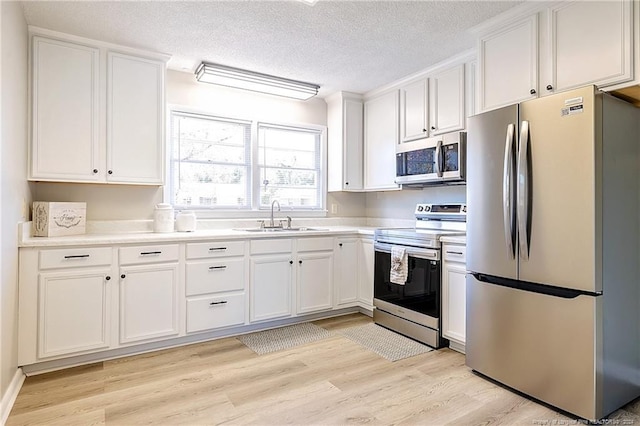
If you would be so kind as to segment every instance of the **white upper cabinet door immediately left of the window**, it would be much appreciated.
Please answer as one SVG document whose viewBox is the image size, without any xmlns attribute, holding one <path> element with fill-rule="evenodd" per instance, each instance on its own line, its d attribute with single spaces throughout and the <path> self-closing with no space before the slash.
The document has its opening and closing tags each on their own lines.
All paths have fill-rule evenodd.
<svg viewBox="0 0 640 426">
<path fill-rule="evenodd" d="M 163 182 L 164 63 L 109 52 L 107 180 Z"/>
</svg>

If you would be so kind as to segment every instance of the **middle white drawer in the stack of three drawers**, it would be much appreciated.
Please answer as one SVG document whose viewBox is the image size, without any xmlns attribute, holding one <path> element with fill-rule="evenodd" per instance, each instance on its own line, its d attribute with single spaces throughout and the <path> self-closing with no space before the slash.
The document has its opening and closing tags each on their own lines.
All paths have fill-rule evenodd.
<svg viewBox="0 0 640 426">
<path fill-rule="evenodd" d="M 244 258 L 187 263 L 187 296 L 244 290 Z"/>
</svg>

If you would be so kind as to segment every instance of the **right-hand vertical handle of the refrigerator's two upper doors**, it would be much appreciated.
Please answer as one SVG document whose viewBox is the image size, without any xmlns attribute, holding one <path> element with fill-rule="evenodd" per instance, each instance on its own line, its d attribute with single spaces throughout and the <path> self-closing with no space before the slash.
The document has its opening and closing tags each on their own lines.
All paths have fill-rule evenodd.
<svg viewBox="0 0 640 426">
<path fill-rule="evenodd" d="M 518 241 L 520 258 L 529 259 L 529 122 L 522 121 L 518 150 Z"/>
</svg>

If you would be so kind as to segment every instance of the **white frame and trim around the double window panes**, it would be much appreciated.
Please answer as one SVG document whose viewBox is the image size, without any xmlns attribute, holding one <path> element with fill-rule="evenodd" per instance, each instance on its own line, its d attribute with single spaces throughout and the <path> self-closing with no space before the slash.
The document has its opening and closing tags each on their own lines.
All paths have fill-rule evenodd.
<svg viewBox="0 0 640 426">
<path fill-rule="evenodd" d="M 248 208 L 229 208 L 229 207 L 205 207 L 205 206 L 181 206 L 174 205 L 172 203 L 172 189 L 174 176 L 172 174 L 171 163 L 173 162 L 173 134 L 172 134 L 172 125 L 173 125 L 173 114 L 185 114 L 185 115 L 194 115 L 194 116 L 203 116 L 205 118 L 219 119 L 221 121 L 229 121 L 229 122 L 238 122 L 238 123 L 250 123 L 250 153 L 251 158 L 249 161 L 250 164 L 250 187 L 249 187 L 249 197 L 250 197 L 250 205 Z M 166 152 L 168 153 L 165 159 L 165 167 L 167 169 L 166 181 L 163 187 L 163 201 L 165 203 L 171 203 L 176 210 L 193 210 L 196 213 L 198 218 L 202 219 L 216 219 L 216 218 L 264 218 L 269 217 L 271 213 L 271 208 L 264 206 L 260 206 L 260 167 L 258 164 L 258 150 L 259 150 L 259 142 L 258 142 L 258 130 L 259 125 L 273 127 L 273 128 L 282 128 L 282 129 L 291 129 L 291 130 L 302 130 L 302 131 L 310 131 L 317 132 L 319 134 L 319 178 L 318 178 L 318 194 L 320 200 L 320 206 L 316 208 L 290 208 L 289 206 L 282 205 L 282 212 L 291 212 L 295 214 L 296 217 L 326 217 L 327 216 L 327 175 L 328 175 L 328 164 L 327 164 L 327 126 L 313 123 L 301 123 L 301 122 L 281 122 L 274 120 L 261 120 L 259 118 L 242 118 L 242 117 L 226 117 L 216 112 L 207 111 L 202 108 L 194 108 L 190 106 L 183 105 L 168 105 L 167 106 L 167 131 L 165 134 L 167 135 L 167 139 L 165 141 Z"/>
</svg>

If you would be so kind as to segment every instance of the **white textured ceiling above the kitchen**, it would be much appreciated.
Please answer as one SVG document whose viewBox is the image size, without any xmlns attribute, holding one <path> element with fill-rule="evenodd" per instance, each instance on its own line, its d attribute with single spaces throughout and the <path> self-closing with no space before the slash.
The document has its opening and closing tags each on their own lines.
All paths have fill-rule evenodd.
<svg viewBox="0 0 640 426">
<path fill-rule="evenodd" d="M 475 46 L 518 1 L 27 1 L 29 25 L 364 93 Z"/>
</svg>

